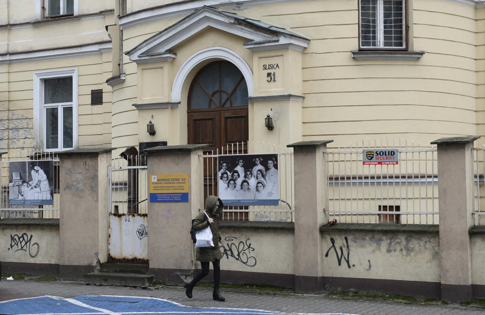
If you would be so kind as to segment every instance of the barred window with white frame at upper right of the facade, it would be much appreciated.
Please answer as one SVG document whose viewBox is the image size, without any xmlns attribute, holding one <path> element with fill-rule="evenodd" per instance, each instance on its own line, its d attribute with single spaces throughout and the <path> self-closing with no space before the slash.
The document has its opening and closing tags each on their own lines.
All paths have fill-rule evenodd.
<svg viewBox="0 0 485 315">
<path fill-rule="evenodd" d="M 360 48 L 406 48 L 406 1 L 360 0 Z"/>
</svg>

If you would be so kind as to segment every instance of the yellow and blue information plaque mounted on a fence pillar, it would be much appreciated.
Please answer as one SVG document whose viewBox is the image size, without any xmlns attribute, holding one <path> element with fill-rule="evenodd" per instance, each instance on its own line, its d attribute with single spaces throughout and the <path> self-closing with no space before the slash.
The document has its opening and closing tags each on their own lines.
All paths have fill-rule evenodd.
<svg viewBox="0 0 485 315">
<path fill-rule="evenodd" d="M 150 175 L 150 202 L 189 202 L 189 174 Z"/>
</svg>

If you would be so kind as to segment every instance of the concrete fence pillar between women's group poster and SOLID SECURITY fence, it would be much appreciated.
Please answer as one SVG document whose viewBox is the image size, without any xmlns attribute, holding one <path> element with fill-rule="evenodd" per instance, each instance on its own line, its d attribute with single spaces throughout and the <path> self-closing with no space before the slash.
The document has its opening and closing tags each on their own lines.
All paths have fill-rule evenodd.
<svg viewBox="0 0 485 315">
<path fill-rule="evenodd" d="M 333 140 L 289 144 L 294 149 L 295 290 L 318 292 L 322 281 L 320 227 L 328 222 L 327 163 L 324 152 Z"/>
</svg>

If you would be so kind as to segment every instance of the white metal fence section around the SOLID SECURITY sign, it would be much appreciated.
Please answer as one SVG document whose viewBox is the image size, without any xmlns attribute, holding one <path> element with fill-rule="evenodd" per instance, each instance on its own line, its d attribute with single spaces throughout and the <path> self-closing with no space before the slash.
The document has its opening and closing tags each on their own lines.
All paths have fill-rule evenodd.
<svg viewBox="0 0 485 315">
<path fill-rule="evenodd" d="M 396 149 L 398 164 L 364 165 L 367 149 Z M 436 147 L 408 140 L 368 139 L 329 148 L 330 219 L 354 223 L 438 224 Z"/>
</svg>

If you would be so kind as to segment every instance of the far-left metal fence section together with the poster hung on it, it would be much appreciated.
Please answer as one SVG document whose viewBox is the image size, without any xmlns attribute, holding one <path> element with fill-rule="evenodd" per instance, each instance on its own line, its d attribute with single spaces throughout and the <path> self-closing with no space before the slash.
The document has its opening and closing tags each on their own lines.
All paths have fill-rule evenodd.
<svg viewBox="0 0 485 315">
<path fill-rule="evenodd" d="M 2 156 L 4 218 L 59 218 L 59 156 L 22 150 Z"/>
</svg>

